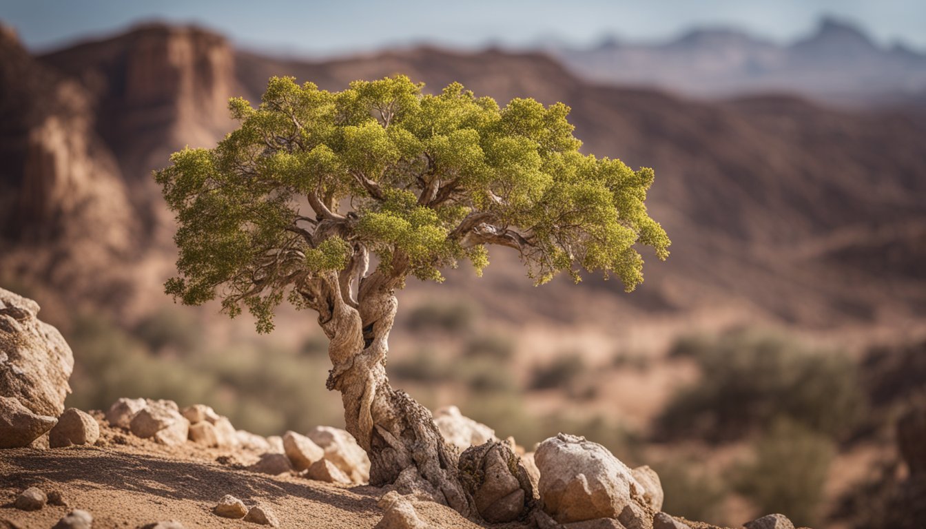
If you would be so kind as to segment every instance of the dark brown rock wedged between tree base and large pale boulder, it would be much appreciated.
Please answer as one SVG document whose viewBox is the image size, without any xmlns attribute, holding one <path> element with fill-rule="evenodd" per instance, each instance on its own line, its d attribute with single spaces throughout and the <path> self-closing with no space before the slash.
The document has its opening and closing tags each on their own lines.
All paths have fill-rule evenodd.
<svg viewBox="0 0 926 529">
<path fill-rule="evenodd" d="M 531 478 L 506 442 L 469 447 L 460 455 L 458 466 L 460 480 L 486 522 L 512 522 L 530 510 Z"/>
</svg>

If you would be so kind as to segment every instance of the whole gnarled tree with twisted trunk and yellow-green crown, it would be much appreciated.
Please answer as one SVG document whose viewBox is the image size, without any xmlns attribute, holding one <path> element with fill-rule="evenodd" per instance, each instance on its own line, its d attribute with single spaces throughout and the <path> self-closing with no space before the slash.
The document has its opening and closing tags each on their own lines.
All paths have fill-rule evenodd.
<svg viewBox="0 0 926 529">
<path fill-rule="evenodd" d="M 177 214 L 179 277 L 166 290 L 198 305 L 219 296 L 273 329 L 287 300 L 314 309 L 331 340 L 329 389 L 367 450 L 373 485 L 400 473 L 471 513 L 431 413 L 386 377 L 387 339 L 407 276 L 519 253 L 534 283 L 568 272 L 643 281 L 634 246 L 669 255 L 646 213 L 653 170 L 579 153 L 569 107 L 499 107 L 454 83 L 436 95 L 396 76 L 328 92 L 273 78 L 257 108 L 230 103 L 240 127 L 212 149 L 184 149 L 156 171 Z M 371 256 L 375 268 L 370 271 Z"/>
</svg>

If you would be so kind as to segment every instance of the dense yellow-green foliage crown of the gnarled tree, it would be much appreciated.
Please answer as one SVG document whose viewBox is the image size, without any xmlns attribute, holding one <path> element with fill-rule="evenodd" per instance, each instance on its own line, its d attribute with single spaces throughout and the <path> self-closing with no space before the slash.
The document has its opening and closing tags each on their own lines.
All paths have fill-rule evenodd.
<svg viewBox="0 0 926 529">
<path fill-rule="evenodd" d="M 507 241 L 535 283 L 602 271 L 628 291 L 643 281 L 636 243 L 669 255 L 644 206 L 653 170 L 580 154 L 569 107 L 530 98 L 499 107 L 459 83 L 421 88 L 401 75 L 343 92 L 272 78 L 257 108 L 232 99 L 237 130 L 156 171 L 179 220 L 180 276 L 167 292 L 200 304 L 218 289 L 226 312 L 244 305 L 267 332 L 299 271 L 340 270 L 356 245 L 387 264 L 401 252 L 409 273 L 441 281 L 460 259 L 482 271 L 485 245 Z M 305 236 L 319 213 L 307 204 L 319 203 L 342 222 Z M 474 213 L 496 238 L 458 229 Z"/>
</svg>

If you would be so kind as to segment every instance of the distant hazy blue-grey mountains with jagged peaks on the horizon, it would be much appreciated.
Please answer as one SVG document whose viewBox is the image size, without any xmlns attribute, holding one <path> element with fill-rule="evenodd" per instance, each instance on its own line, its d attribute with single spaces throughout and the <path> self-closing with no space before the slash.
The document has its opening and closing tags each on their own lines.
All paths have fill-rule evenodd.
<svg viewBox="0 0 926 529">
<path fill-rule="evenodd" d="M 857 27 L 824 18 L 792 44 L 742 31 L 690 31 L 665 44 L 621 43 L 587 49 L 552 46 L 551 54 L 594 82 L 656 86 L 699 97 L 791 93 L 863 105 L 926 90 L 926 55 L 903 44 L 882 47 Z"/>
</svg>

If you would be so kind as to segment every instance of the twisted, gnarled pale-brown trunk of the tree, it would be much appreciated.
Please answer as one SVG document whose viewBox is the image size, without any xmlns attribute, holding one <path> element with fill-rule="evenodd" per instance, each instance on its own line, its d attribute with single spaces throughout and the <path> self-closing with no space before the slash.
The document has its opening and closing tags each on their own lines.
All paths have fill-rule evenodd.
<svg viewBox="0 0 926 529">
<path fill-rule="evenodd" d="M 389 332 L 398 308 L 394 289 L 403 275 L 395 267 L 394 259 L 388 271 L 363 277 L 365 270 L 352 266 L 340 277 L 331 272 L 301 286 L 331 340 L 327 385 L 341 392 L 346 429 L 369 455 L 370 485 L 401 481 L 472 516 L 472 498 L 457 476 L 456 451 L 444 444 L 431 411 L 394 390 L 386 376 Z M 351 296 L 354 280 L 359 283 L 357 301 Z"/>
</svg>

